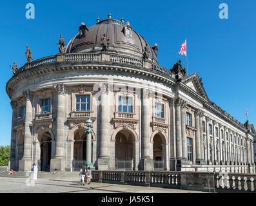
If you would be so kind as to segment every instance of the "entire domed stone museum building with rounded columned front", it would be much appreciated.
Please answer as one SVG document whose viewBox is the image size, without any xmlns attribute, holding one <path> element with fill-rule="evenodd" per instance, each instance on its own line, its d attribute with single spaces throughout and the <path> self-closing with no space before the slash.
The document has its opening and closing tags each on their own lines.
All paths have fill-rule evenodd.
<svg viewBox="0 0 256 206">
<path fill-rule="evenodd" d="M 159 66 L 157 44 L 123 18 L 78 30 L 56 55 L 33 61 L 27 46 L 14 62 L 10 167 L 255 173 L 253 125 L 212 102 L 197 73 Z"/>
</svg>

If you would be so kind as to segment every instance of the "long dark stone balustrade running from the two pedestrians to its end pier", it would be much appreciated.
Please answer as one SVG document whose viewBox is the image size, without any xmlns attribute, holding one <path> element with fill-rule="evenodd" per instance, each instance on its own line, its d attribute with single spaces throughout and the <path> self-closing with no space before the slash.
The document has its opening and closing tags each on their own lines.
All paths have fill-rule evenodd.
<svg viewBox="0 0 256 206">
<path fill-rule="evenodd" d="M 92 171 L 92 181 L 215 192 L 214 174 L 177 171 Z"/>
</svg>

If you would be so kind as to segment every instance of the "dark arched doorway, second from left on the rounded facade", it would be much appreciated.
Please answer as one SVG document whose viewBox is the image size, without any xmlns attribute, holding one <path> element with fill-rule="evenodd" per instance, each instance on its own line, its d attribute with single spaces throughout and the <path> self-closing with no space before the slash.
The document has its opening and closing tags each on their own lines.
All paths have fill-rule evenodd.
<svg viewBox="0 0 256 206">
<path fill-rule="evenodd" d="M 52 136 L 49 132 L 42 135 L 40 140 L 40 167 L 41 171 L 50 171 L 52 157 Z"/>
</svg>

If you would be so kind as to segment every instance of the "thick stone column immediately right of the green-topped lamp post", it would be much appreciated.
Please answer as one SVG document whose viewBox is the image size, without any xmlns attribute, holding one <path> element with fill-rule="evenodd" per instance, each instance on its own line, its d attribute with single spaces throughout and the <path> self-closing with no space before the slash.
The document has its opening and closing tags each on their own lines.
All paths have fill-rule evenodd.
<svg viewBox="0 0 256 206">
<path fill-rule="evenodd" d="M 108 86 L 101 85 L 101 137 L 99 146 L 98 169 L 110 169 L 110 104 L 108 102 Z"/>
</svg>

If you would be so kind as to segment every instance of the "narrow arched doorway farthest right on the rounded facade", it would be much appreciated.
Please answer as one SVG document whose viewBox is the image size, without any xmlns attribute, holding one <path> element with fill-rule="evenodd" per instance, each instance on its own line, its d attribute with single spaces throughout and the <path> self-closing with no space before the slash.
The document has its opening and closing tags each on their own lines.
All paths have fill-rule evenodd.
<svg viewBox="0 0 256 206">
<path fill-rule="evenodd" d="M 163 141 L 159 134 L 153 137 L 153 165 L 155 170 L 164 170 Z"/>
</svg>

